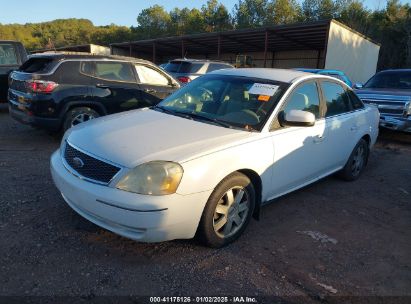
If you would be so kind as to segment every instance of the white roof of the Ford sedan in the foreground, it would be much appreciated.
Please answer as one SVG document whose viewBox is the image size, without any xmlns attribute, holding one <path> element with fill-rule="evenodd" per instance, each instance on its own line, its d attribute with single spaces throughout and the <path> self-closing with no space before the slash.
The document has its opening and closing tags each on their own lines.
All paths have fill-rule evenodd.
<svg viewBox="0 0 411 304">
<path fill-rule="evenodd" d="M 266 68 L 244 68 L 244 69 L 222 69 L 211 72 L 211 74 L 255 77 L 280 82 L 292 83 L 300 78 L 313 77 L 314 74 L 291 69 L 266 69 Z"/>
</svg>

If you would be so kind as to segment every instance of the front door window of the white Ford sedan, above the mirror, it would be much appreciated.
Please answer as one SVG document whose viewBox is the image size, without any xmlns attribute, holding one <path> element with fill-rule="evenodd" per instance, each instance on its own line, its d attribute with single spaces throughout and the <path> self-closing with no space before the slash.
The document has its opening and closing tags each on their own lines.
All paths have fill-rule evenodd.
<svg viewBox="0 0 411 304">
<path fill-rule="evenodd" d="M 291 110 L 307 111 L 313 113 L 317 119 L 320 117 L 320 98 L 315 82 L 302 84 L 291 93 L 283 111 L 286 114 Z"/>
</svg>

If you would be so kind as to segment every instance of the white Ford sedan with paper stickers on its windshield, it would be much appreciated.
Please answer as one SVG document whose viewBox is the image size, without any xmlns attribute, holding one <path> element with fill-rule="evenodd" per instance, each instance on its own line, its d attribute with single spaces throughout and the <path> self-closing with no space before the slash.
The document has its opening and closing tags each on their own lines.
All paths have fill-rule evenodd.
<svg viewBox="0 0 411 304">
<path fill-rule="evenodd" d="M 67 204 L 119 235 L 159 242 L 197 232 L 220 247 L 276 197 L 334 172 L 357 179 L 378 115 L 331 77 L 219 70 L 150 109 L 70 129 L 51 172 Z"/>
</svg>

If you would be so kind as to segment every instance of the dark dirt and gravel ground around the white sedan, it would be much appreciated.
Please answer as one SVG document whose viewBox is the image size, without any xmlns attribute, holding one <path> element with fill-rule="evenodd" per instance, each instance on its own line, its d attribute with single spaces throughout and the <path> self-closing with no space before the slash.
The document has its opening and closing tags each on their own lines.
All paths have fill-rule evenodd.
<svg viewBox="0 0 411 304">
<path fill-rule="evenodd" d="M 282 197 L 219 250 L 193 240 L 137 243 L 83 220 L 51 180 L 58 145 L 0 106 L 2 303 L 142 295 L 411 302 L 411 135 L 381 132 L 358 181 L 331 176 Z"/>
</svg>

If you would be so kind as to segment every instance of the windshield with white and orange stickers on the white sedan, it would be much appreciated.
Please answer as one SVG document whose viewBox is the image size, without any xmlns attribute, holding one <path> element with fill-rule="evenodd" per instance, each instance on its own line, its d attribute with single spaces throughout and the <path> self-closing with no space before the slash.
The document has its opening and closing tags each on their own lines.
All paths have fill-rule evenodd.
<svg viewBox="0 0 411 304">
<path fill-rule="evenodd" d="M 164 99 L 158 108 L 205 123 L 261 130 L 287 87 L 266 79 L 205 75 Z"/>
</svg>

